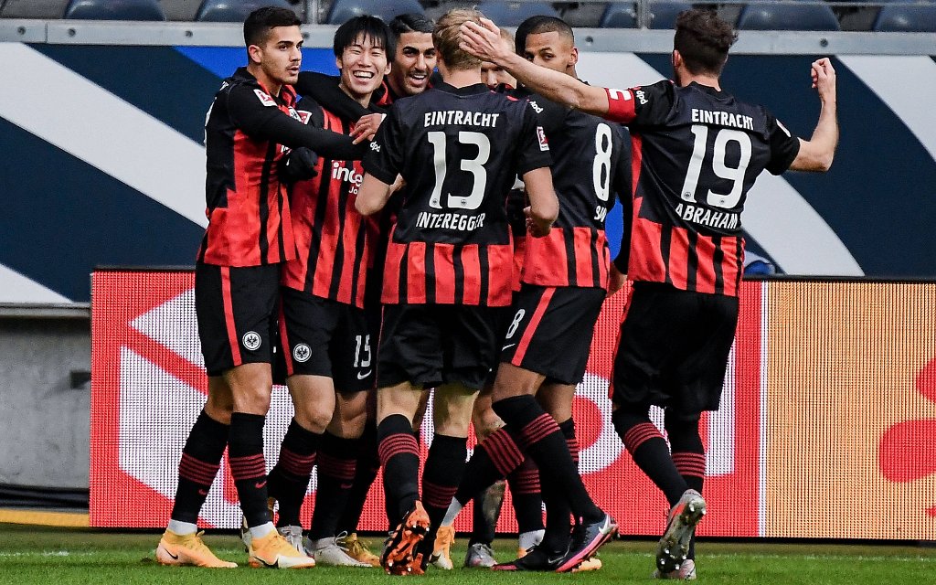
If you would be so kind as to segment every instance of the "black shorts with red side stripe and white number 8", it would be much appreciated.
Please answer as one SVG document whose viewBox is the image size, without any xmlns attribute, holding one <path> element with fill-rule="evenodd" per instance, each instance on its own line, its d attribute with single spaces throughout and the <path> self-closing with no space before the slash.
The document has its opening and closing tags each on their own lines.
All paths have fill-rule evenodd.
<svg viewBox="0 0 936 585">
<path fill-rule="evenodd" d="M 604 288 L 524 283 L 514 296 L 501 361 L 541 373 L 550 383 L 578 384 L 606 297 Z"/>
</svg>

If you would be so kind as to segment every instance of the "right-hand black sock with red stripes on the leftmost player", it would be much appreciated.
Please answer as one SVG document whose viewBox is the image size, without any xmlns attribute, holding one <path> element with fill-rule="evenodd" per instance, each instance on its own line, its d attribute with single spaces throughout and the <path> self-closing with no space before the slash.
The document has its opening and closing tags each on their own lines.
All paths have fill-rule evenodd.
<svg viewBox="0 0 936 585">
<path fill-rule="evenodd" d="M 249 528 L 270 521 L 267 512 L 267 464 L 263 459 L 263 423 L 266 419 L 263 415 L 234 413 L 227 435 L 231 475 Z"/>
</svg>

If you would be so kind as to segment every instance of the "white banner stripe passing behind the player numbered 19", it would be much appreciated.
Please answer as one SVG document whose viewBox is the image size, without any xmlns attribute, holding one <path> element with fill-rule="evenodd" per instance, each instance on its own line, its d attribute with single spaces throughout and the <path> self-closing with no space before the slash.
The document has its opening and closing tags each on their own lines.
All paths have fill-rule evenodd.
<svg viewBox="0 0 936 585">
<path fill-rule="evenodd" d="M 590 52 L 578 62 L 578 74 L 593 84 L 617 88 L 665 77 L 633 53 Z M 864 274 L 826 220 L 782 177 L 761 175 L 751 189 L 743 218 L 745 229 L 785 272 Z"/>
</svg>

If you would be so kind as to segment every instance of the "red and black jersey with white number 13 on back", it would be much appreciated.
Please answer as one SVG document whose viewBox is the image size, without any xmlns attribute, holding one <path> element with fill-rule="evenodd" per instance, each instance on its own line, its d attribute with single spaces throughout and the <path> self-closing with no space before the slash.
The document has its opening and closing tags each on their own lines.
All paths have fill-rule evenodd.
<svg viewBox="0 0 936 585">
<path fill-rule="evenodd" d="M 364 159 L 383 183 L 402 175 L 384 269 L 386 303 L 507 306 L 513 245 L 506 197 L 548 167 L 529 104 L 477 83 L 442 83 L 394 102 Z"/>
</svg>

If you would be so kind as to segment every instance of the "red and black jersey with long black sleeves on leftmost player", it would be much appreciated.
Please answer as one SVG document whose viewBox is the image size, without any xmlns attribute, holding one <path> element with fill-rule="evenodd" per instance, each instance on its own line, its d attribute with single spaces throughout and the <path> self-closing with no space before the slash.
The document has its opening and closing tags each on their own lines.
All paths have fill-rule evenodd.
<svg viewBox="0 0 936 585">
<path fill-rule="evenodd" d="M 296 95 L 271 95 L 245 67 L 224 80 L 205 121 L 208 228 L 198 261 L 221 266 L 276 264 L 296 257 L 289 204 L 277 163 L 289 147 L 354 158 L 367 145 L 302 124 Z"/>
</svg>

